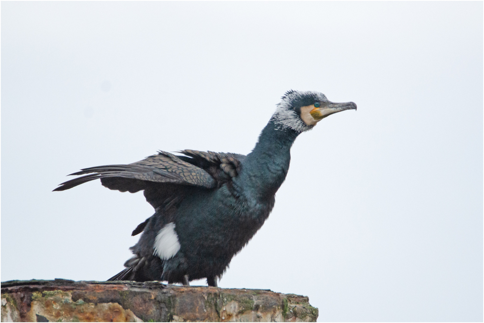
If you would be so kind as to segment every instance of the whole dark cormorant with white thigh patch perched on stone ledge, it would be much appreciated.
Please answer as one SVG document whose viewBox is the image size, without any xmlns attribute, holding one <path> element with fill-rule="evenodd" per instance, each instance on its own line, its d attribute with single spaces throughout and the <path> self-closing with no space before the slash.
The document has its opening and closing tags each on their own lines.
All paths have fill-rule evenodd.
<svg viewBox="0 0 484 323">
<path fill-rule="evenodd" d="M 155 213 L 139 224 L 141 233 L 126 269 L 108 280 L 159 280 L 188 285 L 207 278 L 209 286 L 232 257 L 260 229 L 289 169 L 296 137 L 327 116 L 355 109 L 333 103 L 321 92 L 288 91 L 248 155 L 182 150 L 159 151 L 136 163 L 82 169 L 85 175 L 54 191 L 101 179 L 109 189 L 144 190 Z"/>
</svg>

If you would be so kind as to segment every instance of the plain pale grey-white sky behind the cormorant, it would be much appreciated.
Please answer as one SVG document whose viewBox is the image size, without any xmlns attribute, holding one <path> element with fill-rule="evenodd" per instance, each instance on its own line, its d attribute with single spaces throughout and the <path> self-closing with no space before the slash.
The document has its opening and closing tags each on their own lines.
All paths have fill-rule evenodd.
<svg viewBox="0 0 484 323">
<path fill-rule="evenodd" d="M 220 287 L 319 321 L 483 320 L 483 2 L 2 2 L 1 280 L 105 280 L 153 213 L 78 169 L 247 154 L 289 89 L 358 111 L 292 149 Z M 198 282 L 205 284 L 205 281 Z"/>
</svg>

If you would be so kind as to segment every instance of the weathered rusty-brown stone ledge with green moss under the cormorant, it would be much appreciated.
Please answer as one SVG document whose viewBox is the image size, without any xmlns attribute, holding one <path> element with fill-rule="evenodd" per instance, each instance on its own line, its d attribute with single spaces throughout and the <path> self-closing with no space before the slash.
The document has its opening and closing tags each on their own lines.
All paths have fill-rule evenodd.
<svg viewBox="0 0 484 323">
<path fill-rule="evenodd" d="M 316 322 L 306 296 L 160 282 L 11 280 L 1 322 Z"/>
</svg>

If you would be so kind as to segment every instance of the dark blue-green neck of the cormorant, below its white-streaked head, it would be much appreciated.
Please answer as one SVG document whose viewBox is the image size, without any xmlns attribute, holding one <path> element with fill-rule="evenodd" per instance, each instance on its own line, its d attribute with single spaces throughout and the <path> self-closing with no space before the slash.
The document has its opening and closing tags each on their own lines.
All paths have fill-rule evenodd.
<svg viewBox="0 0 484 323">
<path fill-rule="evenodd" d="M 271 118 L 242 165 L 240 180 L 247 195 L 257 200 L 273 198 L 286 179 L 290 149 L 298 135 L 290 128 L 279 127 Z"/>
</svg>

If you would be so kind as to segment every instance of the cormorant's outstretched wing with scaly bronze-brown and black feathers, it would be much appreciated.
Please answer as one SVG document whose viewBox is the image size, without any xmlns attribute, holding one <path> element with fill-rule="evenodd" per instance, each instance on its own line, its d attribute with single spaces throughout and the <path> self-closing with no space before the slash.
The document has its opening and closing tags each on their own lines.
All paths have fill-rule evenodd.
<svg viewBox="0 0 484 323">
<path fill-rule="evenodd" d="M 190 186 L 207 189 L 230 183 L 241 171 L 241 154 L 200 152 L 183 150 L 185 156 L 160 151 L 136 163 L 106 165 L 81 169 L 70 175 L 84 175 L 62 183 L 54 191 L 63 191 L 77 185 L 101 179 L 109 189 L 135 193 L 144 190 L 146 200 L 158 210 L 165 211 L 176 206 L 189 194 Z M 230 185 L 230 188 L 231 185 Z M 147 219 L 133 231 L 136 235 L 144 230 Z"/>
</svg>

